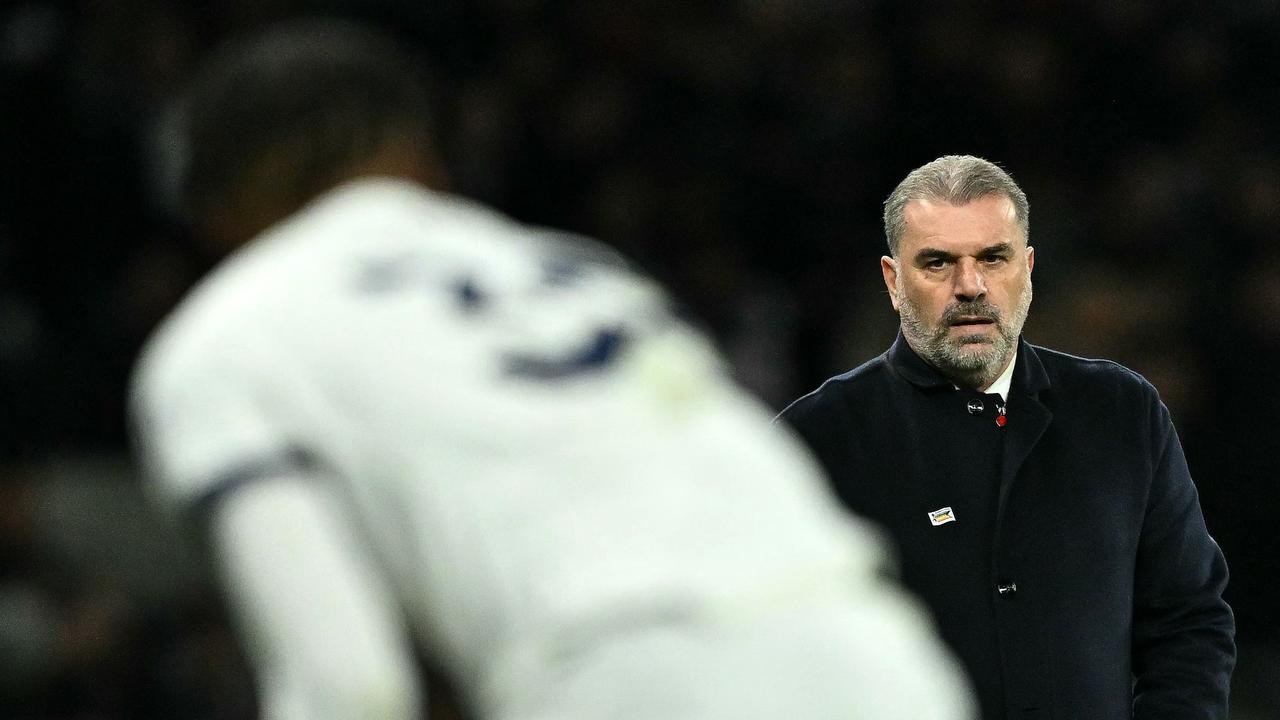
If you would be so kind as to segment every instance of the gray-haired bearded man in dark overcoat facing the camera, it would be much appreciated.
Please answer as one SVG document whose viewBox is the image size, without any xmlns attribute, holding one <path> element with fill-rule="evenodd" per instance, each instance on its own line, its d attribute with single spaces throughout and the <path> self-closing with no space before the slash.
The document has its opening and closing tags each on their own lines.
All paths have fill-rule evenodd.
<svg viewBox="0 0 1280 720">
<path fill-rule="evenodd" d="M 1235 624 L 1156 389 L 1021 340 L 1034 249 L 1000 167 L 945 156 L 884 202 L 901 332 L 783 410 L 960 656 L 983 717 L 1225 720 Z"/>
</svg>

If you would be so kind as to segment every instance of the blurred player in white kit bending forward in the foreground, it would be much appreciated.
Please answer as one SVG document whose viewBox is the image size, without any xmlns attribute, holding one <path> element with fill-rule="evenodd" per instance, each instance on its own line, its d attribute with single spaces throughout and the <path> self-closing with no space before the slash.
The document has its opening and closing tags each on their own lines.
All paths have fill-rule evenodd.
<svg viewBox="0 0 1280 720">
<path fill-rule="evenodd" d="M 873 538 L 609 251 L 445 195 L 385 38 L 233 45 L 169 123 L 227 259 L 133 386 L 207 527 L 264 716 L 970 716 Z"/>
</svg>

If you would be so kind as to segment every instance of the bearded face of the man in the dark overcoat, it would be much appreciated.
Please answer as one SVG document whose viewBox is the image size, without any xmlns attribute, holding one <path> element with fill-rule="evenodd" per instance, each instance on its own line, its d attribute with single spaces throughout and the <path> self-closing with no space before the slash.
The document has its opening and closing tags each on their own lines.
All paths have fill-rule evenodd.
<svg viewBox="0 0 1280 720">
<path fill-rule="evenodd" d="M 904 219 L 897 258 L 881 258 L 902 336 L 957 383 L 986 388 L 1012 360 L 1032 302 L 1036 254 L 1014 204 L 913 200 Z"/>
</svg>

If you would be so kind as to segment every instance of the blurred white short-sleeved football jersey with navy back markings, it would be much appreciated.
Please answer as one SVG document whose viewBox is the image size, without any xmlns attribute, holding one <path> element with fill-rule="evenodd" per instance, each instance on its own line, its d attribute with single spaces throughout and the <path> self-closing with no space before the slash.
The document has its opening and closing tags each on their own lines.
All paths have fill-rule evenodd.
<svg viewBox="0 0 1280 720">
<path fill-rule="evenodd" d="M 338 488 L 486 715 L 534 715 L 557 678 L 625 684 L 584 679 L 599 638 L 879 598 L 876 542 L 658 287 L 406 182 L 342 186 L 232 256 L 148 345 L 133 407 L 175 509 L 278 465 Z M 874 657 L 897 624 L 924 637 L 913 612 L 847 652 Z"/>
</svg>

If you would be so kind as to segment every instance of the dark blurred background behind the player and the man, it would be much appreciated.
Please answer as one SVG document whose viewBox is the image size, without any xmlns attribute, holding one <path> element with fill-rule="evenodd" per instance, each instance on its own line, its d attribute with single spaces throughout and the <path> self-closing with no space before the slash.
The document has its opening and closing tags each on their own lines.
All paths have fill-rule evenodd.
<svg viewBox="0 0 1280 720">
<path fill-rule="evenodd" d="M 420 47 L 456 188 L 631 254 L 774 407 L 892 338 L 893 184 L 1001 163 L 1032 204 L 1027 337 L 1160 388 L 1233 569 L 1234 717 L 1280 716 L 1280 6 L 1247 0 L 6 0 L 0 716 L 252 712 L 123 398 L 207 266 L 156 210 L 156 111 L 211 45 L 302 12 Z"/>
</svg>

